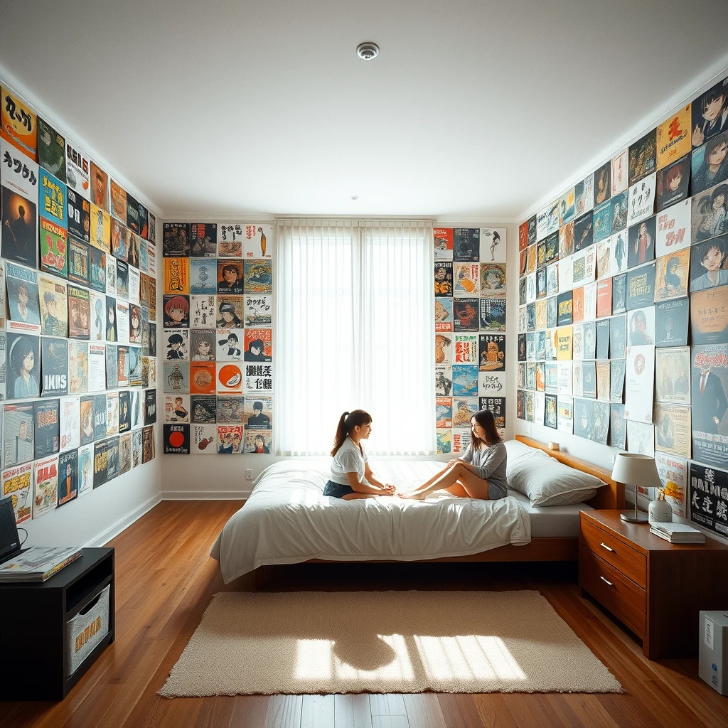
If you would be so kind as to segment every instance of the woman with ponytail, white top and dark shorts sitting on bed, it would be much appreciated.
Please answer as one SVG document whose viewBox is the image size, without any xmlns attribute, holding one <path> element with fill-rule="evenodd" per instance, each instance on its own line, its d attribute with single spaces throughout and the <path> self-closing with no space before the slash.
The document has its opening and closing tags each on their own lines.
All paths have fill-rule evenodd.
<svg viewBox="0 0 728 728">
<path fill-rule="evenodd" d="M 343 500 L 391 496 L 395 486 L 382 483 L 369 467 L 362 440 L 371 435 L 371 416 L 364 410 L 344 412 L 333 440 L 331 479 L 323 494 Z"/>
</svg>

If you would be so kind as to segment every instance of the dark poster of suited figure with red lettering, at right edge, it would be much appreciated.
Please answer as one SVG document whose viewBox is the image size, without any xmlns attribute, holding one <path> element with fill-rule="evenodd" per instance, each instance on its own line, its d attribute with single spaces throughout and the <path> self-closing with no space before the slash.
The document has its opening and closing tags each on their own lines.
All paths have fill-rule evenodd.
<svg viewBox="0 0 728 728">
<path fill-rule="evenodd" d="M 691 347 L 692 453 L 706 465 L 728 459 L 728 344 Z"/>
</svg>

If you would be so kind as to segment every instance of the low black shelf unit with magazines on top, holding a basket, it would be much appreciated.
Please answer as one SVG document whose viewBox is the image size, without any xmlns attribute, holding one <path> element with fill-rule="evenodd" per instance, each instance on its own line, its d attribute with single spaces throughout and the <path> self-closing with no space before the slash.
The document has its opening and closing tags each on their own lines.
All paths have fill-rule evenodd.
<svg viewBox="0 0 728 728">
<path fill-rule="evenodd" d="M 66 677 L 66 622 L 109 584 L 108 634 Z M 0 700 L 63 700 L 113 641 L 113 548 L 84 548 L 42 583 L 0 583 Z"/>
</svg>

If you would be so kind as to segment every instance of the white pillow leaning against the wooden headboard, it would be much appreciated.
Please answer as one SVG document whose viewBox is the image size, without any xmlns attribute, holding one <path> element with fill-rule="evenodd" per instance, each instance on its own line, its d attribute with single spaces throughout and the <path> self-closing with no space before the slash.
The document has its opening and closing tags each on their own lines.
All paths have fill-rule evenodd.
<svg viewBox="0 0 728 728">
<path fill-rule="evenodd" d="M 529 497 L 532 506 L 572 505 L 589 500 L 604 480 L 558 462 L 542 450 L 507 462 L 508 485 Z M 540 456 L 538 454 L 540 454 Z"/>
</svg>

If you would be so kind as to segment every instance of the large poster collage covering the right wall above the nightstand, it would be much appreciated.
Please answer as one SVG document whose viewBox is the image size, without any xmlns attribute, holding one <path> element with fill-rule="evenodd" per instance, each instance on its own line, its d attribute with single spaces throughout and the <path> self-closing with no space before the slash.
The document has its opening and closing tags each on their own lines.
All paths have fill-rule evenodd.
<svg viewBox="0 0 728 728">
<path fill-rule="evenodd" d="M 728 77 L 518 229 L 517 416 L 654 456 L 728 535 Z"/>
</svg>

